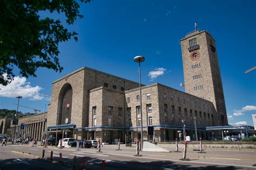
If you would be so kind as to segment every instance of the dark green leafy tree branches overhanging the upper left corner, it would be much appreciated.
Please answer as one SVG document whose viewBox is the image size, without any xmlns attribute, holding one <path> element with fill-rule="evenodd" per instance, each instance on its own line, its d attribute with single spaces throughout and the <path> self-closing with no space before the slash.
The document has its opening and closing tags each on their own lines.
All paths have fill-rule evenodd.
<svg viewBox="0 0 256 170">
<path fill-rule="evenodd" d="M 81 0 L 82 3 L 90 1 Z M 36 77 L 39 67 L 62 72 L 58 44 L 71 38 L 77 41 L 77 33 L 69 32 L 59 19 L 42 18 L 39 12 L 65 13 L 66 23 L 70 25 L 77 18 L 83 18 L 79 8 L 76 0 L 1 0 L 0 84 L 6 86 L 14 79 L 15 67 L 24 77 Z"/>
</svg>

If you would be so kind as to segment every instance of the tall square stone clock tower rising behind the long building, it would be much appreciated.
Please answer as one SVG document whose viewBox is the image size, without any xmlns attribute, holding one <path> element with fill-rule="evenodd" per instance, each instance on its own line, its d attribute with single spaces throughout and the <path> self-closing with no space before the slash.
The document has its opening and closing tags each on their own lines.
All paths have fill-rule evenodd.
<svg viewBox="0 0 256 170">
<path fill-rule="evenodd" d="M 207 31 L 195 30 L 180 40 L 185 92 L 211 101 L 215 126 L 228 125 L 215 40 Z"/>
</svg>

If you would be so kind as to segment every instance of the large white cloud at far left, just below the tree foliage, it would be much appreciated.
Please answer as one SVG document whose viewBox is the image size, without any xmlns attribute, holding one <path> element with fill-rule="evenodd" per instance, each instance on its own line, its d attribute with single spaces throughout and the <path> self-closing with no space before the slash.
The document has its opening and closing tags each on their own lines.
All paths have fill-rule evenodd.
<svg viewBox="0 0 256 170">
<path fill-rule="evenodd" d="M 6 77 L 7 74 L 3 74 Z M 22 96 L 23 98 L 29 98 L 29 100 L 49 100 L 49 97 L 44 97 L 40 94 L 43 88 L 36 86 L 31 87 L 30 82 L 26 82 L 25 77 L 14 77 L 14 80 L 7 86 L 0 84 L 0 96 L 14 98 L 16 96 Z"/>
</svg>

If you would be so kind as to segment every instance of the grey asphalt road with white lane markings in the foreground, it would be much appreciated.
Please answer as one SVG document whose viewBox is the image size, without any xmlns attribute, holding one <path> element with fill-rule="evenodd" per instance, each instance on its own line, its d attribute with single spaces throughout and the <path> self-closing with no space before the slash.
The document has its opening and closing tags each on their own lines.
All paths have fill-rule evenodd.
<svg viewBox="0 0 256 170">
<path fill-rule="evenodd" d="M 82 157 L 85 157 L 86 169 L 101 169 L 102 160 L 105 160 L 106 169 L 256 169 L 256 152 L 254 151 L 187 151 L 187 159 L 183 158 L 183 152 L 140 152 L 141 157 L 134 157 L 136 148 L 117 145 L 104 145 L 102 152 L 96 148 L 43 148 L 42 146 L 31 147 L 29 145 L 0 146 L 0 169 L 65 169 L 66 165 L 72 165 L 73 157 L 77 157 L 77 168 L 81 168 Z M 53 151 L 53 160 L 59 162 L 59 153 L 62 153 L 62 164 L 52 164 L 51 161 L 39 159 L 42 151 L 49 159 Z M 24 153 L 23 153 L 24 152 Z M 30 153 L 30 154 L 29 154 Z M 43 166 L 42 166 L 43 165 Z M 22 167 L 22 168 L 21 168 Z"/>
</svg>

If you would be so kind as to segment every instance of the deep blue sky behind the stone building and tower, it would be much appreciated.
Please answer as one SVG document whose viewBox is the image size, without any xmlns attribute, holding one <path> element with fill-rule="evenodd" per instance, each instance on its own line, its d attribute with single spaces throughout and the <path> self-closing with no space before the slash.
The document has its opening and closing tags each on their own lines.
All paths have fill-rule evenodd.
<svg viewBox="0 0 256 170">
<path fill-rule="evenodd" d="M 12 96 L 26 93 L 28 97 L 22 98 L 20 104 L 43 111 L 44 105 L 50 103 L 45 100 L 49 96 L 43 94 L 51 94 L 52 82 L 60 77 L 86 66 L 138 82 L 138 63 L 133 58 L 143 55 L 146 61 L 142 64 L 142 83 L 158 82 L 184 91 L 179 86 L 184 82 L 180 39 L 197 23 L 200 30 L 209 31 L 216 40 L 228 122 L 252 125 L 256 70 L 244 72 L 256 65 L 255 6 L 256 1 L 101 0 L 82 4 L 84 18 L 68 26 L 77 31 L 78 42 L 70 40 L 59 45 L 63 72 L 39 68 L 37 77 L 17 79 L 16 86 L 5 90 L 10 90 Z M 45 16 L 48 13 L 42 13 Z M 52 16 L 64 22 L 63 15 Z M 163 74 L 152 79 L 149 73 L 157 68 L 163 68 Z M 12 89 L 17 86 L 23 92 Z M 0 93 L 0 108 L 17 109 L 13 104 L 17 98 L 6 96 Z M 33 112 L 22 107 L 19 110 Z"/>
</svg>

